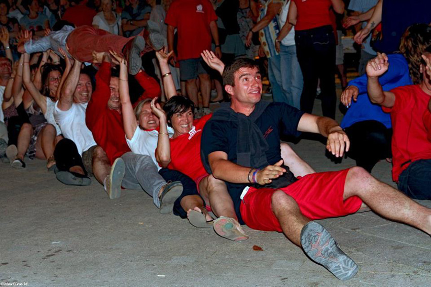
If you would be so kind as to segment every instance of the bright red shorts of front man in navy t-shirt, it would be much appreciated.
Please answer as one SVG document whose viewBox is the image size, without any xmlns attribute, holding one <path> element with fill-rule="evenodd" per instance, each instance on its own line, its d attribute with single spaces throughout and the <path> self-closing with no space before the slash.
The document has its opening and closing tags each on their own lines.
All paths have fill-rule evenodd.
<svg viewBox="0 0 431 287">
<path fill-rule="evenodd" d="M 345 216 L 356 212 L 362 204 L 361 198 L 357 196 L 343 200 L 348 171 L 309 174 L 279 190 L 292 196 L 301 213 L 311 220 Z M 272 194 L 275 191 L 271 188 L 250 187 L 240 205 L 242 219 L 248 227 L 282 232 L 271 208 Z"/>
</svg>

